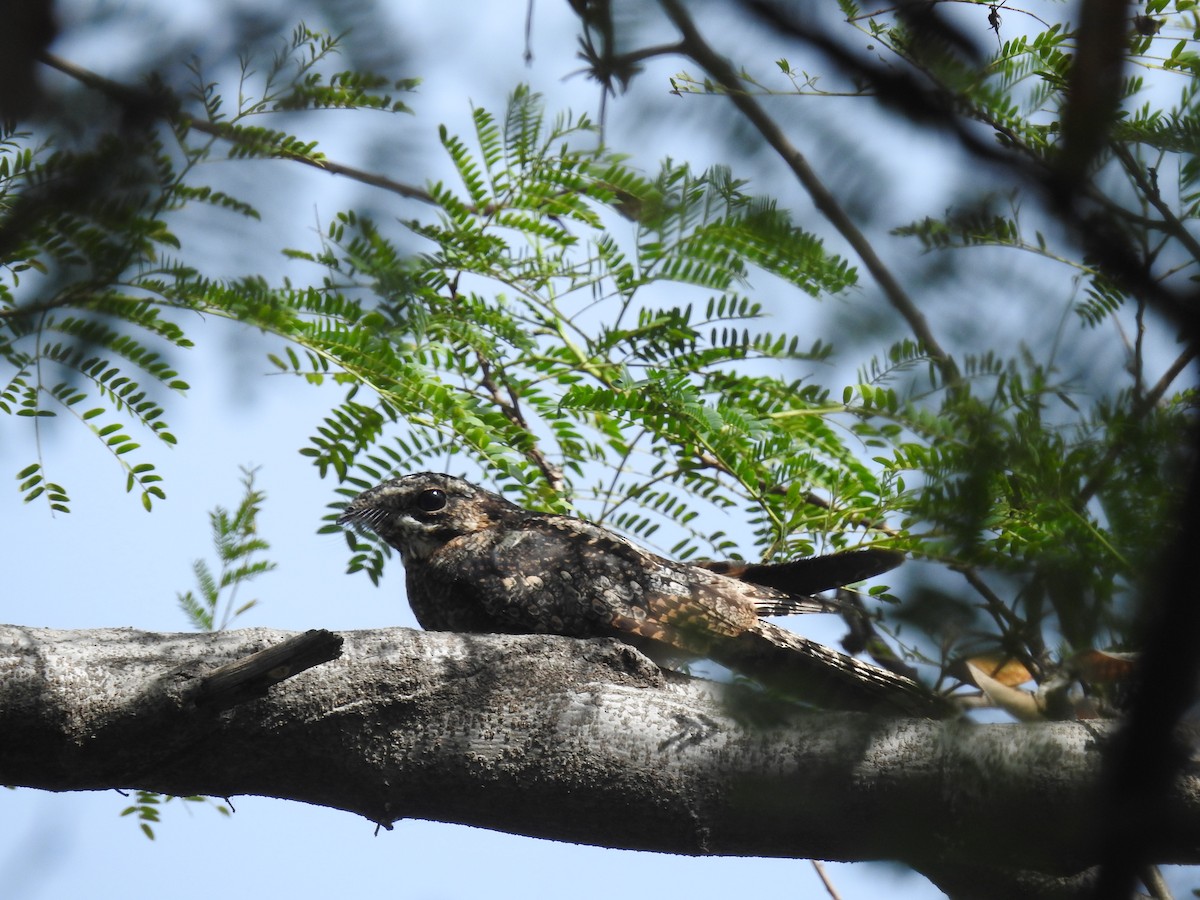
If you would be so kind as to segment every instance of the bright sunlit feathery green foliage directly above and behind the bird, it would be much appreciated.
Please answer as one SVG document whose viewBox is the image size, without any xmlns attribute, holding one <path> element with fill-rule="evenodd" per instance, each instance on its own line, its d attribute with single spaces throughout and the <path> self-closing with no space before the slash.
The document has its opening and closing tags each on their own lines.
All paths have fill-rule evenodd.
<svg viewBox="0 0 1200 900">
<path fill-rule="evenodd" d="M 350 212 L 319 251 L 292 251 L 330 275 L 286 295 L 300 348 L 272 361 L 353 385 L 304 450 L 344 496 L 395 472 L 484 470 L 524 503 L 582 504 L 642 538 L 683 526 L 680 556 L 732 550 L 697 505 L 752 510 L 768 552 L 788 553 L 812 544 L 784 486 L 869 505 L 856 479 L 870 474 L 847 476 L 853 454 L 818 416 L 798 434 L 770 425 L 827 404 L 822 391 L 744 374 L 828 353 L 763 330 L 751 276 L 821 295 L 852 286 L 851 266 L 727 169 L 646 175 L 528 89 L 474 127 L 442 131 L 460 184 L 431 185 L 437 215 L 406 223 L 426 241 L 416 259 Z M 386 550 L 352 541 L 352 569 L 377 578 Z"/>
</svg>

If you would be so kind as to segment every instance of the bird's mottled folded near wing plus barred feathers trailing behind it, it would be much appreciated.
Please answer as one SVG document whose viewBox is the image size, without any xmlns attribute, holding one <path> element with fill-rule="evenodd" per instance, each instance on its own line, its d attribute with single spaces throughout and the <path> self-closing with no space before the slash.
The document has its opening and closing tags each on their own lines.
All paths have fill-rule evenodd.
<svg viewBox="0 0 1200 900">
<path fill-rule="evenodd" d="M 486 590 L 557 634 L 608 634 L 640 647 L 708 656 L 823 706 L 943 715 L 916 682 L 793 635 L 758 618 L 774 588 L 658 557 L 604 528 L 566 516 L 530 517 L 490 545 Z M 760 566 L 762 568 L 762 566 Z"/>
</svg>

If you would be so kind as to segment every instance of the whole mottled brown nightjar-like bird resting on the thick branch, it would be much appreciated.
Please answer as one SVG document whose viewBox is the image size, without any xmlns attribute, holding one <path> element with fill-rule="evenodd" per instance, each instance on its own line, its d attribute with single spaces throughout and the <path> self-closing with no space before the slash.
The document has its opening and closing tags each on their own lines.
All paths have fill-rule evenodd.
<svg viewBox="0 0 1200 900">
<path fill-rule="evenodd" d="M 944 712 L 917 683 L 760 618 L 827 611 L 809 594 L 887 571 L 901 562 L 896 553 L 677 563 L 590 522 L 532 512 L 436 473 L 365 491 L 338 522 L 400 551 L 408 600 L 428 630 L 619 637 L 656 659 L 713 659 L 822 706 Z"/>
</svg>

